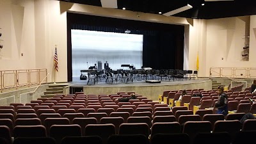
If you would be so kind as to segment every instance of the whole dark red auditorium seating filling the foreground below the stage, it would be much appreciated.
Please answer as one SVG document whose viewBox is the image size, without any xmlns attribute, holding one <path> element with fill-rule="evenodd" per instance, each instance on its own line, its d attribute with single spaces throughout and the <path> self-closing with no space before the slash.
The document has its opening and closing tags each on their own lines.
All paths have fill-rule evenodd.
<svg viewBox="0 0 256 144">
<path fill-rule="evenodd" d="M 211 98 L 217 96 L 215 91 L 188 92 L 207 94 L 204 97 Z M 196 144 L 205 138 L 207 141 L 214 139 L 209 143 L 223 138 L 223 143 L 241 143 L 241 139 L 256 133 L 256 120 L 246 120 L 243 125 L 239 122 L 246 113 L 243 111 L 225 117 L 214 114 L 212 109 L 193 111 L 195 109 L 185 106 L 186 102 L 180 102 L 184 106 L 171 109 L 168 104 L 154 102 L 140 94 L 129 102 L 116 101 L 130 97 L 131 93 L 134 92 L 110 95 L 78 92 L 31 100 L 28 104 L 0 106 L 0 143 L 164 144 L 173 140 Z M 237 97 L 241 94 L 248 93 L 238 92 Z M 228 95 L 236 93 L 228 92 Z"/>
</svg>

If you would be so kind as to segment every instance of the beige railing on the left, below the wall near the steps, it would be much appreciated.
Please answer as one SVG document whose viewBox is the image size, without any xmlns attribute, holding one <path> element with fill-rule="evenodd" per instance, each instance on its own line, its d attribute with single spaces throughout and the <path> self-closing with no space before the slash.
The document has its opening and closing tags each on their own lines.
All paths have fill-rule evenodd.
<svg viewBox="0 0 256 144">
<path fill-rule="evenodd" d="M 47 83 L 47 69 L 31 70 L 2 70 L 0 71 L 0 91 L 22 86 L 33 86 L 36 84 Z"/>
</svg>

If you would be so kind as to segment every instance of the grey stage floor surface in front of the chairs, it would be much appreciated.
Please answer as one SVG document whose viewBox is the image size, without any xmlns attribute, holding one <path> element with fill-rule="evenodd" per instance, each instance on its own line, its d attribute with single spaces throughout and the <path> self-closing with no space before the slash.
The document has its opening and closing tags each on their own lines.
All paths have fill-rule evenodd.
<svg viewBox="0 0 256 144">
<path fill-rule="evenodd" d="M 201 83 L 203 81 L 209 81 L 209 78 L 204 79 L 184 79 L 184 80 L 171 80 L 171 81 L 161 81 L 161 83 L 146 83 L 145 80 L 134 81 L 133 83 L 120 83 L 120 84 L 107 84 L 105 81 L 100 81 L 97 84 L 89 84 L 87 85 L 87 80 L 80 80 L 79 77 L 73 77 L 72 82 L 68 82 L 73 84 L 72 87 L 116 87 L 116 86 L 161 86 L 161 85 L 176 85 L 176 84 L 191 84 L 191 83 Z"/>
</svg>

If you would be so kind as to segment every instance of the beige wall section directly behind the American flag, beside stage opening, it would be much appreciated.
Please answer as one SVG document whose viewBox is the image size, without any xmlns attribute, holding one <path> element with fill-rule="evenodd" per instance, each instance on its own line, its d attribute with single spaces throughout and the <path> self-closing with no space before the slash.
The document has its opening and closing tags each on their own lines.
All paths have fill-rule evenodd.
<svg viewBox="0 0 256 144">
<path fill-rule="evenodd" d="M 36 67 L 47 68 L 48 82 L 54 81 L 54 51 L 57 45 L 56 81 L 67 81 L 67 12 L 60 12 L 60 1 L 35 0 Z M 38 35 L 37 35 L 38 34 Z"/>
</svg>

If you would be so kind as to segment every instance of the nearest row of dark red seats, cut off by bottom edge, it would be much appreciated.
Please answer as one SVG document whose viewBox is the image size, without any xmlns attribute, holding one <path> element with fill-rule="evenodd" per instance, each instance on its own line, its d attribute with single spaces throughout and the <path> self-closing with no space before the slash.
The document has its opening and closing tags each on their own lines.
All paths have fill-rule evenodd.
<svg viewBox="0 0 256 144">
<path fill-rule="evenodd" d="M 237 132 L 236 138 L 232 143 L 242 144 L 251 143 L 251 138 L 255 136 L 256 131 L 239 131 Z M 10 139 L 10 138 L 9 138 Z M 200 144 L 202 141 L 207 141 L 208 144 L 219 143 L 230 144 L 230 134 L 228 132 L 200 132 L 195 135 L 194 138 L 189 138 L 186 133 L 175 133 L 175 134 L 154 134 L 148 140 L 148 138 L 143 134 L 122 134 L 122 135 L 111 135 L 106 143 L 108 144 L 130 144 L 130 143 L 140 143 L 140 144 L 165 144 L 170 143 L 170 140 L 179 140 L 179 143 L 191 143 Z M 0 138 L 3 143 L 3 140 Z M 57 144 L 53 138 L 16 138 L 13 144 L 34 144 L 34 143 L 47 143 L 47 144 Z M 61 144 L 83 144 L 83 143 L 93 143 L 93 144 L 103 144 L 102 138 L 99 136 L 66 136 L 61 140 Z M 9 144 L 9 143 L 6 143 Z"/>
</svg>

